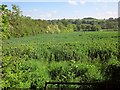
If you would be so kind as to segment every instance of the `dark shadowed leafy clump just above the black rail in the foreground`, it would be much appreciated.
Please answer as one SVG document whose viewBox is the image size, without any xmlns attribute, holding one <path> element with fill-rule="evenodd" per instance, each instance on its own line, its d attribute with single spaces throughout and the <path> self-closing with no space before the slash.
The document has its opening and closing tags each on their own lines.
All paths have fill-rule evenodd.
<svg viewBox="0 0 120 90">
<path fill-rule="evenodd" d="M 60 65 L 58 63 L 56 63 L 57 64 L 56 66 L 54 66 L 54 63 L 50 64 L 49 74 L 53 81 L 85 82 L 85 81 L 98 81 L 103 79 L 102 75 L 100 74 L 100 70 L 95 65 L 92 65 L 90 63 L 86 64 L 79 63 L 74 60 L 68 63 L 66 63 L 66 66 L 64 66 L 64 64 Z"/>
</svg>

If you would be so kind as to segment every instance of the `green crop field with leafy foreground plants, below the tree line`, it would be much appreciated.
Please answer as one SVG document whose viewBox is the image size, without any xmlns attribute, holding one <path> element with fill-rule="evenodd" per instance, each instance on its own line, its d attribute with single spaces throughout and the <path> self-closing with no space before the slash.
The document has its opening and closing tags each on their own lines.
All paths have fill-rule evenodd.
<svg viewBox="0 0 120 90">
<path fill-rule="evenodd" d="M 43 88 L 46 81 L 104 81 L 116 78 L 110 70 L 117 69 L 112 65 L 120 65 L 117 31 L 11 38 L 3 49 L 3 67 L 9 66 L 3 69 L 3 87 Z"/>
</svg>

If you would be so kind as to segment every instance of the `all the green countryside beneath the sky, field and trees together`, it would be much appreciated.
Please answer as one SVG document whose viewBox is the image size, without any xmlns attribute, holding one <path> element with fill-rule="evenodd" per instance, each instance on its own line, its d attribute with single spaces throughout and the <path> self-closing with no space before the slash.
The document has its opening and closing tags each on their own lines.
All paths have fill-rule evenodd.
<svg viewBox="0 0 120 90">
<path fill-rule="evenodd" d="M 0 88 L 42 90 L 46 81 L 120 81 L 120 18 L 41 20 L 24 16 L 19 6 L 11 6 L 12 10 L 0 5 Z M 120 88 L 119 83 L 108 86 Z M 60 85 L 80 90 L 101 87 L 104 84 Z"/>
</svg>

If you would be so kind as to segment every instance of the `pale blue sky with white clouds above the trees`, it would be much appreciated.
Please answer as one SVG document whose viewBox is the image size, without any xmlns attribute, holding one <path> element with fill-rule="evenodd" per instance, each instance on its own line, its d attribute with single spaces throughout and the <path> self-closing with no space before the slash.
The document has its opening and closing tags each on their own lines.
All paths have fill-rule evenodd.
<svg viewBox="0 0 120 90">
<path fill-rule="evenodd" d="M 9 1 L 9 2 L 8 2 Z M 119 0 L 4 0 L 2 4 L 20 7 L 22 14 L 34 19 L 117 18 Z M 89 2 L 88 2 L 89 1 Z"/>
</svg>

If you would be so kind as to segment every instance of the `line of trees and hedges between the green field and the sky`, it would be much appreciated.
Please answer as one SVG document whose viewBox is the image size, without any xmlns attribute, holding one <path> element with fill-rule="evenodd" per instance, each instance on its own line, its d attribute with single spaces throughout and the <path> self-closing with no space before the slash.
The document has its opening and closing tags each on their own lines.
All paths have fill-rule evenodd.
<svg viewBox="0 0 120 90">
<path fill-rule="evenodd" d="M 76 31 L 100 31 L 118 30 L 118 18 L 96 19 L 92 17 L 83 19 L 58 19 L 41 20 L 23 16 L 19 6 L 11 5 L 12 10 L 7 9 L 7 5 L 1 5 L 1 12 L 7 10 L 8 32 L 7 38 L 24 37 L 43 33 L 62 33 Z M 2 14 L 2 18 L 4 18 Z M 2 21 L 5 23 L 6 21 Z M 5 32 L 4 30 L 1 30 Z"/>
</svg>

